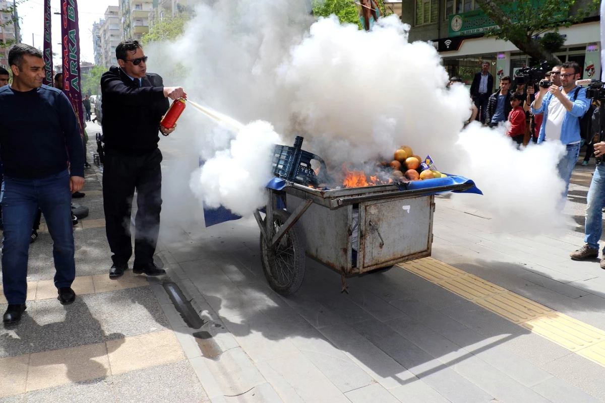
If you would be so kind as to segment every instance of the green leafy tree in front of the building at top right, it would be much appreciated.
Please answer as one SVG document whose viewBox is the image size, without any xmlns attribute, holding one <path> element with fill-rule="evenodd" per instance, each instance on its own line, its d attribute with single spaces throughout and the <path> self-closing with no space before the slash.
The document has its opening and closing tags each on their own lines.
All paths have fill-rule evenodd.
<svg viewBox="0 0 605 403">
<path fill-rule="evenodd" d="M 483 12 L 493 19 L 499 28 L 486 32 L 486 36 L 512 42 L 519 50 L 535 60 L 546 60 L 551 65 L 561 63 L 548 44 L 557 40 L 551 35 L 548 44 L 536 39 L 538 35 L 552 31 L 558 34 L 560 27 L 570 27 L 581 22 L 594 11 L 600 0 L 588 0 L 586 10 L 573 10 L 576 0 L 475 0 Z M 562 43 L 562 42 L 561 42 Z"/>
</svg>

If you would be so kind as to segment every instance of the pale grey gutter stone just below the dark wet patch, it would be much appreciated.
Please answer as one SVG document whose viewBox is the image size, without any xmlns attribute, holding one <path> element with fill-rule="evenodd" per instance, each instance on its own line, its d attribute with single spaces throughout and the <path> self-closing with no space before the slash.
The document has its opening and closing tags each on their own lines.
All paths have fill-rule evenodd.
<svg viewBox="0 0 605 403">
<path fill-rule="evenodd" d="M 249 356 L 240 347 L 224 351 L 216 360 L 195 359 L 203 360 L 215 381 L 218 382 L 220 390 L 226 396 L 240 395 L 266 382 Z M 214 398 L 213 395 L 211 396 Z"/>
</svg>

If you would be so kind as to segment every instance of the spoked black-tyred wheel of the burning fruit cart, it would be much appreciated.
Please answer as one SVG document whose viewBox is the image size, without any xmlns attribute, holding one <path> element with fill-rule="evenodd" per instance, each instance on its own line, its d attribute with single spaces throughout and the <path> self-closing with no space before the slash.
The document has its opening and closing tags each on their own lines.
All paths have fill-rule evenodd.
<svg viewBox="0 0 605 403">
<path fill-rule="evenodd" d="M 289 216 L 285 210 L 273 210 L 273 234 Z M 294 294 L 302 284 L 305 267 L 304 235 L 299 224 L 284 234 L 275 250 L 267 246 L 263 234 L 260 246 L 263 271 L 271 288 L 281 295 Z"/>
</svg>

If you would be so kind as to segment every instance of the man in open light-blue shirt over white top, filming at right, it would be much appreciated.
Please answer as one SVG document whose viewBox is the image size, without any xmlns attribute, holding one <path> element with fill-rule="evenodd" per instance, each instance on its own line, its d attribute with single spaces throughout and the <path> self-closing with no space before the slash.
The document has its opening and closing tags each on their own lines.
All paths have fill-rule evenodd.
<svg viewBox="0 0 605 403">
<path fill-rule="evenodd" d="M 540 88 L 532 104 L 532 114 L 544 114 L 538 144 L 542 141 L 560 141 L 567 147 L 558 164 L 558 172 L 565 181 L 565 192 L 560 202 L 563 209 L 569 189 L 571 173 L 580 156 L 580 120 L 590 106 L 586 88 L 575 85 L 580 79 L 581 68 L 576 62 L 561 65 L 561 87 L 551 85 Z"/>
</svg>

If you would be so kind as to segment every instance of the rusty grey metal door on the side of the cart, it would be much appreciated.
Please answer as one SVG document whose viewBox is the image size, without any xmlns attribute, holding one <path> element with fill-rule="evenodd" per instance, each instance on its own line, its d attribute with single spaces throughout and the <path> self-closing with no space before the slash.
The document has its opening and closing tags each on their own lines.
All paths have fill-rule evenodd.
<svg viewBox="0 0 605 403">
<path fill-rule="evenodd" d="M 359 204 L 359 272 L 431 256 L 434 196 Z"/>
</svg>

